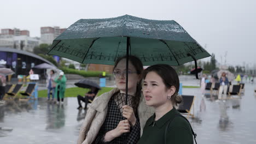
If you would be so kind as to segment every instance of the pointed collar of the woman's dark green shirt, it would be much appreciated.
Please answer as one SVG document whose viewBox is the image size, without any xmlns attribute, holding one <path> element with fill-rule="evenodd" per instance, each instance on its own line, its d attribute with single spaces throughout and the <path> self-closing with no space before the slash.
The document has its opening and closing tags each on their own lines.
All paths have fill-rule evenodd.
<svg viewBox="0 0 256 144">
<path fill-rule="evenodd" d="M 172 119 L 178 111 L 173 107 L 172 110 L 168 111 L 164 116 L 162 116 L 158 121 L 155 121 L 155 113 L 152 117 L 148 119 L 148 126 L 152 125 L 153 127 L 161 128 L 164 126 L 170 119 Z"/>
</svg>

